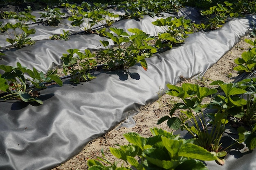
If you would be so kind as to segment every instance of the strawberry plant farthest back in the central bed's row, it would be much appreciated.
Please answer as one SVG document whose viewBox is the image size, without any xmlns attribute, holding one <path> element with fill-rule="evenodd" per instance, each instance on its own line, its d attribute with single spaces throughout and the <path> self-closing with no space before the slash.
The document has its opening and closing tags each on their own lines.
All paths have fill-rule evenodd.
<svg viewBox="0 0 256 170">
<path fill-rule="evenodd" d="M 184 17 L 161 18 L 152 24 L 161 27 L 164 31 L 164 33 L 158 33 L 158 39 L 155 43 L 158 48 L 172 48 L 173 44 L 183 43 L 184 38 L 188 37 L 187 34 L 193 33 L 191 20 L 185 20 Z"/>
</svg>

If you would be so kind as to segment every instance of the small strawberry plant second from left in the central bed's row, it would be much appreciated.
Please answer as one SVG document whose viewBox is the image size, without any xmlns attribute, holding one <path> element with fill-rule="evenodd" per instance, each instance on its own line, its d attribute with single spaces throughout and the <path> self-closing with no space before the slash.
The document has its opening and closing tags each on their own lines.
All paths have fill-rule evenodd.
<svg viewBox="0 0 256 170">
<path fill-rule="evenodd" d="M 70 81 L 73 83 L 80 83 L 84 81 L 90 81 L 94 78 L 90 74 L 90 70 L 94 69 L 97 65 L 95 54 L 92 54 L 90 50 L 85 49 L 85 52 L 79 52 L 78 49 L 67 50 L 68 54 L 63 54 L 61 59 L 63 60 L 63 72 L 65 75 L 70 74 Z"/>
</svg>

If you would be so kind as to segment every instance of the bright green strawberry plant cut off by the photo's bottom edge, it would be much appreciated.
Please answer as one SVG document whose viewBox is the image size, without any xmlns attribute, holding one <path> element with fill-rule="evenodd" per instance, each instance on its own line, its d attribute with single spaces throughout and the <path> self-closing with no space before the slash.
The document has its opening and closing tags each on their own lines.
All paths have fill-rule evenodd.
<svg viewBox="0 0 256 170">
<path fill-rule="evenodd" d="M 193 139 L 181 139 L 178 135 L 157 128 L 151 129 L 151 132 L 154 136 L 148 138 L 137 133 L 126 133 L 124 137 L 130 144 L 120 148 L 110 148 L 112 155 L 123 160 L 126 166 L 118 168 L 116 162 L 111 163 L 103 154 L 103 159 L 99 159 L 110 166 L 104 166 L 100 161 L 90 159 L 88 160 L 89 170 L 132 170 L 131 166 L 137 170 L 206 170 L 206 166 L 201 161 L 217 159 L 214 153 L 193 144 Z M 136 156 L 140 161 L 135 159 Z"/>
</svg>

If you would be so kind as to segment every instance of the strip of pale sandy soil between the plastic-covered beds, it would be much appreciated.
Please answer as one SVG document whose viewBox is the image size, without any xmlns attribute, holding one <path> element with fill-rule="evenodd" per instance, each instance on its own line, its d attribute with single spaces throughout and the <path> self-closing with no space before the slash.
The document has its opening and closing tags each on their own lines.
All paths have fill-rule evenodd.
<svg viewBox="0 0 256 170">
<path fill-rule="evenodd" d="M 234 81 L 238 75 L 237 72 L 233 70 L 233 68 L 236 66 L 234 59 L 241 57 L 242 52 L 247 51 L 251 47 L 249 44 L 245 43 L 245 38 L 249 39 L 249 37 L 243 37 L 241 41 L 229 52 L 227 52 L 222 59 L 213 65 L 213 67 L 211 67 L 203 77 L 193 80 L 181 78 L 181 82 L 178 83 L 178 85 L 181 85 L 184 82 L 189 82 L 210 87 L 209 84 L 212 81 L 221 80 L 226 83 Z M 252 39 L 254 40 L 255 38 Z M 164 94 L 161 88 L 159 89 L 159 92 L 156 93 L 159 94 L 159 96 Z M 102 137 L 90 142 L 78 155 L 74 156 L 72 159 L 54 168 L 53 170 L 87 170 L 87 160 L 101 157 L 101 148 L 104 150 L 106 158 L 111 162 L 114 162 L 117 159 L 112 156 L 109 151 L 109 147 L 116 147 L 115 144 L 128 144 L 123 136 L 124 133 L 136 132 L 144 137 L 149 137 L 151 135 L 150 128 L 153 127 L 171 131 L 165 122 L 159 125 L 156 123 L 159 118 L 169 114 L 169 109 L 171 109 L 175 102 L 177 102 L 176 98 L 164 94 L 162 97 L 159 97 L 159 100 L 151 103 L 150 105 L 141 107 L 140 112 L 133 117 L 136 122 L 134 127 L 120 127 L 110 131 Z"/>
</svg>

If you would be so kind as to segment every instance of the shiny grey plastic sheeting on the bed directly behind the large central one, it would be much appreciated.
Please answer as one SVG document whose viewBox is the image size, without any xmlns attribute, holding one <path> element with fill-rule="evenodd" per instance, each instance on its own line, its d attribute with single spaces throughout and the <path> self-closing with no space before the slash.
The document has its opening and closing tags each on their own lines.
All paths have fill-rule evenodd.
<svg viewBox="0 0 256 170">
<path fill-rule="evenodd" d="M 195 10 L 193 13 L 193 16 L 198 15 Z M 162 15 L 164 17 L 175 16 L 168 13 L 162 13 Z M 190 16 L 192 16 L 192 14 Z M 152 18 L 146 15 L 144 18 L 139 20 L 121 20 L 112 24 L 112 27 L 122 28 L 127 33 L 130 33 L 128 28 L 139 28 L 151 36 L 157 36 L 159 32 L 163 32 L 162 28 L 152 24 L 152 22 L 157 20 L 157 18 L 163 17 Z M 58 27 L 42 25 L 37 27 L 37 30 L 39 30 L 37 31 L 39 33 L 39 37 L 49 36 L 51 31 L 54 31 L 54 29 L 56 29 L 55 32 L 57 30 L 61 31 L 61 28 Z M 47 28 L 45 29 L 45 27 L 52 28 L 52 30 L 47 31 Z M 42 33 L 42 35 L 40 35 L 40 33 Z M 17 50 L 10 49 L 4 51 L 4 54 L 6 55 L 1 57 L 2 60 L 0 61 L 0 64 L 15 66 L 17 62 L 20 62 L 22 65 L 26 65 L 26 67 L 29 69 L 34 67 L 38 71 L 46 73 L 47 70 L 53 68 L 55 65 L 61 64 L 60 58 L 62 54 L 67 53 L 66 50 L 70 48 L 76 48 L 79 50 L 99 50 L 101 47 L 99 40 L 109 41 L 110 46 L 114 45 L 112 40 L 100 37 L 99 35 L 72 35 L 69 36 L 69 38 L 70 39 L 67 41 L 42 40 L 37 41 L 33 46 L 26 46 Z M 1 72 L 2 71 L 0 70 L 0 73 Z"/>
</svg>

